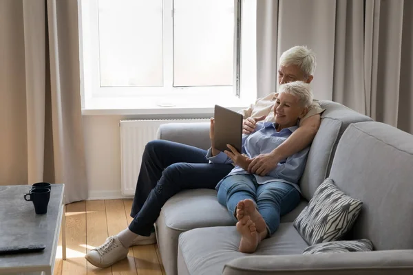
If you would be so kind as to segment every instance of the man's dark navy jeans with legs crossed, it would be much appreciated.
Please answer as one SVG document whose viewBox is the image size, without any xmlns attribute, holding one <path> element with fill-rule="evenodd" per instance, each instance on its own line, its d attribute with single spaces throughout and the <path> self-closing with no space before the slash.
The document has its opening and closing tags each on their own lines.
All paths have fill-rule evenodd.
<svg viewBox="0 0 413 275">
<path fill-rule="evenodd" d="M 207 151 L 167 140 L 145 146 L 136 184 L 129 230 L 141 236 L 153 232 L 153 223 L 169 198 L 184 189 L 214 189 L 234 168 L 232 164 L 209 164 Z"/>
</svg>

